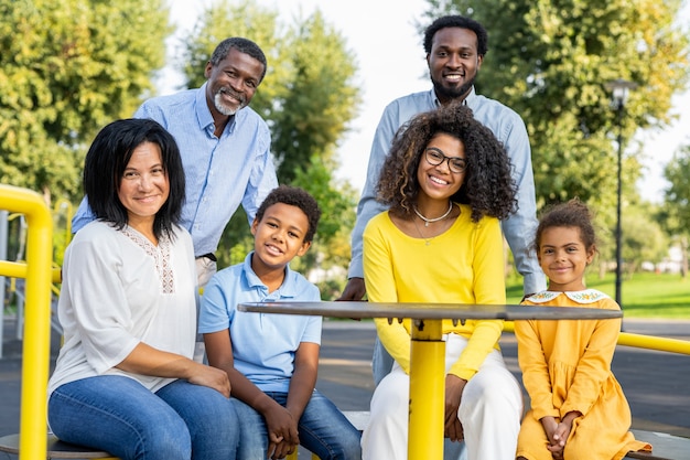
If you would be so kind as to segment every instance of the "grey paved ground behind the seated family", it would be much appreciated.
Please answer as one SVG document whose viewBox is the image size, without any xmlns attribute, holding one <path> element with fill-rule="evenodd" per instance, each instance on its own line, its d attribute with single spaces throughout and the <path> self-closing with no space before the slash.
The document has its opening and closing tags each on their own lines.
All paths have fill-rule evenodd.
<svg viewBox="0 0 690 460">
<path fill-rule="evenodd" d="M 626 332 L 690 340 L 690 319 L 683 321 L 624 320 Z M 19 430 L 21 342 L 6 318 L 0 359 L 0 436 Z M 368 410 L 374 392 L 371 322 L 324 323 L 317 388 L 343 410 Z M 57 338 L 53 338 L 54 349 Z M 519 378 L 515 336 L 504 334 L 506 362 Z M 613 370 L 633 410 L 633 428 L 690 437 L 690 356 L 619 346 Z M 300 456 L 302 457 L 302 456 Z M 12 457 L 3 457 L 0 460 Z"/>
</svg>

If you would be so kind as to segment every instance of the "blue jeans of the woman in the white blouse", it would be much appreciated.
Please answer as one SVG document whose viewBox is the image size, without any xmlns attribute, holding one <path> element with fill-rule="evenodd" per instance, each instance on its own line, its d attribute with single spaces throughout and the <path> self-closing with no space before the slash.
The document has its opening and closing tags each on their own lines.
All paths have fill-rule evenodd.
<svg viewBox="0 0 690 460">
<path fill-rule="evenodd" d="M 122 460 L 233 460 L 239 421 L 220 393 L 174 381 L 155 394 L 120 375 L 61 385 L 48 424 L 62 440 Z"/>
</svg>

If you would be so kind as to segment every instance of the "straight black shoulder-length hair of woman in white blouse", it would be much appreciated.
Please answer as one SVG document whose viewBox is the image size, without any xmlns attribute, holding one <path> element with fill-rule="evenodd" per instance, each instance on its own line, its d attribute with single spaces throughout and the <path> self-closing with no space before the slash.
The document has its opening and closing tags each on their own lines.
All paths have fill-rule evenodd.
<svg viewBox="0 0 690 460">
<path fill-rule="evenodd" d="M 152 142 L 161 149 L 161 161 L 170 182 L 168 201 L 155 214 L 153 233 L 173 238 L 184 202 L 184 171 L 175 139 L 157 121 L 129 118 L 112 121 L 96 135 L 84 161 L 84 192 L 95 217 L 123 228 L 127 208 L 118 199 L 125 169 L 137 147 Z"/>
</svg>

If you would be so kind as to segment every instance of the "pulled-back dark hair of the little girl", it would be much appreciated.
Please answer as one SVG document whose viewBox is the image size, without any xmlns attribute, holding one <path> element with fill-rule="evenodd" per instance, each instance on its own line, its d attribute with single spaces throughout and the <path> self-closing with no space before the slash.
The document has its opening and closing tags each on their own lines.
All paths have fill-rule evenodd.
<svg viewBox="0 0 690 460">
<path fill-rule="evenodd" d="M 596 250 L 596 232 L 592 224 L 593 215 L 586 204 L 574 197 L 565 203 L 548 207 L 537 226 L 533 248 L 539 254 L 541 236 L 547 228 L 572 227 L 580 231 L 580 239 L 586 250 Z"/>
</svg>

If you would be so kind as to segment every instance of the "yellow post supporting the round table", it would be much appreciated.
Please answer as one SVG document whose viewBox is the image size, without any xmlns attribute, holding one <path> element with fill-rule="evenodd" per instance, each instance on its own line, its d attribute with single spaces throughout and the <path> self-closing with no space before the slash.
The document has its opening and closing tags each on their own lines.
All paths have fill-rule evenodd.
<svg viewBox="0 0 690 460">
<path fill-rule="evenodd" d="M 443 458 L 445 342 L 442 320 L 412 320 L 409 460 Z"/>
</svg>

